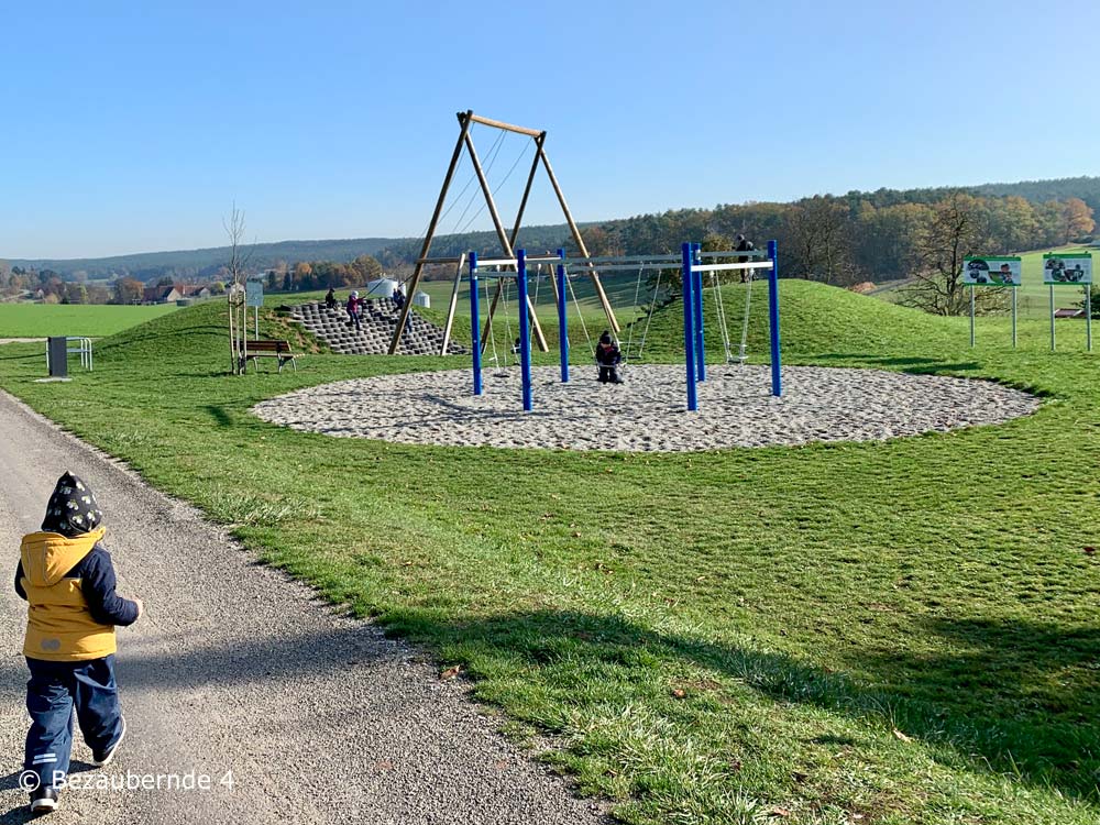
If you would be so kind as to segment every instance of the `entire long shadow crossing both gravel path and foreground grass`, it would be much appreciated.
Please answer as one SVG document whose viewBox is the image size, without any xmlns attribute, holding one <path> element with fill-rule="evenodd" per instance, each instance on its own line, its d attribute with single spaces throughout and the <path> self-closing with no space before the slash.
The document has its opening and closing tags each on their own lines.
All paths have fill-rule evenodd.
<svg viewBox="0 0 1100 825">
<path fill-rule="evenodd" d="M 475 678 L 482 668 L 521 672 L 532 686 L 569 702 L 570 716 L 582 719 L 585 702 L 605 704 L 607 696 L 585 698 L 570 680 L 605 679 L 608 690 L 622 693 L 616 701 L 645 703 L 654 691 L 667 695 L 668 674 L 682 674 L 686 664 L 777 702 L 895 727 L 930 745 L 928 755 L 955 770 L 1015 777 L 1100 804 L 1094 724 L 1100 628 L 935 620 L 928 629 L 963 652 L 942 659 L 865 656 L 859 666 L 886 685 L 871 689 L 784 653 L 662 634 L 612 615 L 539 610 L 451 620 L 431 610 L 406 610 L 392 614 L 387 627 L 435 650 L 461 651 L 452 661 L 469 664 Z M 292 639 L 134 652 L 119 660 L 119 681 L 124 690 L 254 682 L 277 690 L 301 674 L 355 668 L 369 683 L 373 668 L 402 654 L 403 648 L 383 639 L 375 626 L 356 624 Z M 701 674 L 701 682 L 707 681 Z M 719 683 L 708 690 L 728 692 Z M 547 710 L 553 717 L 554 708 Z M 600 712 L 592 708 L 593 715 Z M 836 737 L 813 741 L 851 744 Z"/>
</svg>

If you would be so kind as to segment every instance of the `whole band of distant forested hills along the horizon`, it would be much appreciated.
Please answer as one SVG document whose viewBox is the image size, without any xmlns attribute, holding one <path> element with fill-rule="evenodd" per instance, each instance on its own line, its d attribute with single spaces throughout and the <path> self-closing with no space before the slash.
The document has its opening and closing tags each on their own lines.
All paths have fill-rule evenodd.
<svg viewBox="0 0 1100 825">
<path fill-rule="evenodd" d="M 739 233 L 758 244 L 776 239 L 784 274 L 844 285 L 935 268 L 930 258 L 946 240 L 947 210 L 966 224 L 955 241 L 967 252 L 993 254 L 1089 239 L 1097 209 L 1100 177 L 1075 177 L 718 205 L 585 223 L 582 233 L 592 254 L 674 252 L 684 240 L 711 238 L 721 244 Z M 249 266 L 283 273 L 302 262 L 316 268 L 321 263 L 348 264 L 370 255 L 385 270 L 402 272 L 411 266 L 421 243 L 411 238 L 263 243 L 250 248 Z M 524 228 L 518 245 L 539 251 L 565 246 L 575 252 L 563 223 Z M 436 239 L 431 254 L 457 255 L 469 250 L 493 254 L 499 252 L 499 244 L 493 232 L 446 235 Z M 11 260 L 0 262 L 0 278 L 16 270 L 48 272 L 51 277 L 81 283 L 122 277 L 144 283 L 211 280 L 223 278 L 228 258 L 227 248 L 213 248 L 70 261 Z"/>
</svg>

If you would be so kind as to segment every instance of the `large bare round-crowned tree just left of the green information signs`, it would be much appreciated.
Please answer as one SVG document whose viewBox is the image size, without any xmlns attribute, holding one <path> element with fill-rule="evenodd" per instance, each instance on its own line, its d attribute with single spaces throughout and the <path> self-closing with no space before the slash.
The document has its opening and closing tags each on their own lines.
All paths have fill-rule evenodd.
<svg viewBox="0 0 1100 825">
<path fill-rule="evenodd" d="M 904 302 L 933 315 L 965 315 L 970 294 L 963 283 L 964 262 L 986 243 L 987 231 L 975 198 L 953 193 L 933 205 L 928 220 L 917 230 L 916 282 L 904 290 Z M 988 312 L 1004 306 L 1000 289 L 975 293 L 976 309 Z"/>
</svg>

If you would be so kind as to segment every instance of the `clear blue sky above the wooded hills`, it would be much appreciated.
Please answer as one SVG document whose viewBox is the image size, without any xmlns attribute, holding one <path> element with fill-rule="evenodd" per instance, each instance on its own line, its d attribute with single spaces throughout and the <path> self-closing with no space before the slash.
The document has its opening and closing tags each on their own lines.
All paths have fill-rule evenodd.
<svg viewBox="0 0 1100 825">
<path fill-rule="evenodd" d="M 417 235 L 464 109 L 548 130 L 581 220 L 1100 174 L 1087 0 L 14 6 L 3 257 L 221 245 L 234 200 L 258 241 Z"/>
</svg>

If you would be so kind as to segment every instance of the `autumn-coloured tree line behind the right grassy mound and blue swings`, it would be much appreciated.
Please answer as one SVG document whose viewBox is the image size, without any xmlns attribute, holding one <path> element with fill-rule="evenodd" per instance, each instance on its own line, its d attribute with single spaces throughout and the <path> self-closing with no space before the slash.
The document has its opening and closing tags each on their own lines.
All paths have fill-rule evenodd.
<svg viewBox="0 0 1100 825">
<path fill-rule="evenodd" d="M 817 195 L 790 204 L 744 204 L 688 209 L 610 221 L 588 229 L 594 255 L 679 250 L 684 239 L 734 249 L 744 234 L 773 239 L 782 274 L 837 286 L 910 279 L 906 299 L 931 312 L 968 309 L 960 274 L 968 255 L 991 255 L 1089 242 L 1092 208 L 1069 197 L 1033 204 L 1021 196 L 939 191 L 927 202 L 876 205 L 858 195 Z M 1001 296 L 1003 297 L 1003 296 Z M 999 300 L 982 298 L 992 308 Z"/>
</svg>

